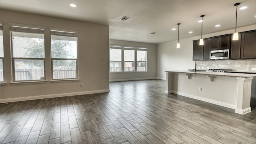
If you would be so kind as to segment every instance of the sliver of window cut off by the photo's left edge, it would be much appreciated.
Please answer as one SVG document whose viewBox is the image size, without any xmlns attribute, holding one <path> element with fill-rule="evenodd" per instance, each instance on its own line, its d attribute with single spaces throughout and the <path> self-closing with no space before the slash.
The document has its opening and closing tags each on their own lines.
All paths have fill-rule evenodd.
<svg viewBox="0 0 256 144">
<path fill-rule="evenodd" d="M 2 23 L 0 22 L 0 82 L 4 82 L 3 60 L 4 60 L 3 27 L 2 27 Z"/>
</svg>

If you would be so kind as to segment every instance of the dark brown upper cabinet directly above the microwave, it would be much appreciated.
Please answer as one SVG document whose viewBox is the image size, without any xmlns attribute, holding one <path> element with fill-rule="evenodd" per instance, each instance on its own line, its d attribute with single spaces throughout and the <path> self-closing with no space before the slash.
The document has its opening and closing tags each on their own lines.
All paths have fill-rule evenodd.
<svg viewBox="0 0 256 144">
<path fill-rule="evenodd" d="M 230 48 L 230 36 L 231 36 L 231 34 L 212 37 L 211 38 L 211 50 L 229 49 Z"/>
</svg>

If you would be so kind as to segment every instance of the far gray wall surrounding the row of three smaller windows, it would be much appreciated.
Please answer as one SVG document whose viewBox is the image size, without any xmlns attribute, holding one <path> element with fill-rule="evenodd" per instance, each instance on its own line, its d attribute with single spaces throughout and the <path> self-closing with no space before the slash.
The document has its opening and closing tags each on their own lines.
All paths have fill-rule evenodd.
<svg viewBox="0 0 256 144">
<path fill-rule="evenodd" d="M 147 47 L 147 72 L 119 72 L 110 73 L 109 80 L 123 81 L 123 80 L 143 80 L 156 78 L 156 64 L 157 64 L 157 44 L 149 44 L 142 42 L 130 42 L 123 40 L 109 40 L 109 44 L 121 46 L 141 46 Z"/>
</svg>

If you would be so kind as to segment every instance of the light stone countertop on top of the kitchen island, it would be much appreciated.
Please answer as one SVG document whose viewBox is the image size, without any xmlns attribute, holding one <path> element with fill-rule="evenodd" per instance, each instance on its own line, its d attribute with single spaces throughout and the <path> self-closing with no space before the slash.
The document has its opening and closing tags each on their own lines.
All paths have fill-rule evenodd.
<svg viewBox="0 0 256 144">
<path fill-rule="evenodd" d="M 229 73 L 229 72 L 193 72 L 188 70 L 172 70 L 172 71 L 165 71 L 165 72 L 204 74 L 204 75 L 212 75 L 212 76 L 230 76 L 230 77 L 240 77 L 240 78 L 256 77 L 256 74 L 240 74 L 240 73 Z"/>
</svg>

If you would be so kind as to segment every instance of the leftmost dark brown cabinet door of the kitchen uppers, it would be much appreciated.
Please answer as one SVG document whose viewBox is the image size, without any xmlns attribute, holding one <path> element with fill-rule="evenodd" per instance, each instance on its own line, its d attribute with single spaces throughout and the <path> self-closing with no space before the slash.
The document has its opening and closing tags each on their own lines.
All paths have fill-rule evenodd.
<svg viewBox="0 0 256 144">
<path fill-rule="evenodd" d="M 193 41 L 193 60 L 203 60 L 204 45 L 199 45 L 199 40 Z"/>
</svg>

